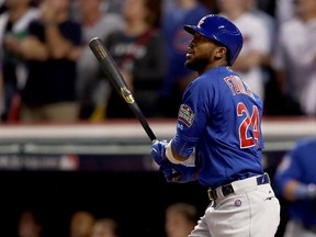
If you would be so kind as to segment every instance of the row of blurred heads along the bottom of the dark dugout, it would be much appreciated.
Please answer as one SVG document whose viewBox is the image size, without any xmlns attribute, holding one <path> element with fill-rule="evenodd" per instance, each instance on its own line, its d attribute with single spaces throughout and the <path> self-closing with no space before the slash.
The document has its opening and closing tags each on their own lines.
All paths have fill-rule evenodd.
<svg viewBox="0 0 316 237">
<path fill-rule="evenodd" d="M 161 219 L 165 237 L 188 237 L 199 219 L 198 207 L 189 202 L 167 204 Z M 16 237 L 122 237 L 131 236 L 131 230 L 113 216 L 98 216 L 91 211 L 77 210 L 69 213 L 64 230 L 46 222 L 47 216 L 38 210 L 22 210 L 16 222 Z M 56 226 L 55 226 L 56 227 Z M 57 230 L 58 229 L 58 230 Z M 159 229 L 159 228 L 158 228 Z M 129 233 L 129 234 L 128 234 Z M 15 235 L 14 235 L 15 236 Z M 156 235 L 155 236 L 159 236 Z"/>
</svg>

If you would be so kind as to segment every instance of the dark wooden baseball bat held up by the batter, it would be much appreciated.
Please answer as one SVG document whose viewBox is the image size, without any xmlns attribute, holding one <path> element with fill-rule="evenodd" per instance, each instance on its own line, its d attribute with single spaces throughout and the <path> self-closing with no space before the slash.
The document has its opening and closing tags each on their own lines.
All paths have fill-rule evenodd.
<svg viewBox="0 0 316 237">
<path fill-rule="evenodd" d="M 95 58 L 99 60 L 99 64 L 106 76 L 106 78 L 111 81 L 117 93 L 125 100 L 128 104 L 129 109 L 140 122 L 143 128 L 147 133 L 148 137 L 151 142 L 156 140 L 156 135 L 151 131 L 144 113 L 139 109 L 137 102 L 135 101 L 132 92 L 128 90 L 123 76 L 121 75 L 119 67 L 114 59 L 112 58 L 110 52 L 103 45 L 102 41 L 99 37 L 93 37 L 89 42 L 89 47 L 94 54 Z"/>
</svg>

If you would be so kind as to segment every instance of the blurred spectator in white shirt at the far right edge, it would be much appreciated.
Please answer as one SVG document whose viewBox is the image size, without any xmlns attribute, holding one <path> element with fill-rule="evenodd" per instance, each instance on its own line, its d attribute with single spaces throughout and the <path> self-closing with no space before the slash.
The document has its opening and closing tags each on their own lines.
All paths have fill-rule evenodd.
<svg viewBox="0 0 316 237">
<path fill-rule="evenodd" d="M 281 113 L 316 115 L 316 1 L 293 1 L 295 18 L 279 26 L 273 68 Z"/>
</svg>

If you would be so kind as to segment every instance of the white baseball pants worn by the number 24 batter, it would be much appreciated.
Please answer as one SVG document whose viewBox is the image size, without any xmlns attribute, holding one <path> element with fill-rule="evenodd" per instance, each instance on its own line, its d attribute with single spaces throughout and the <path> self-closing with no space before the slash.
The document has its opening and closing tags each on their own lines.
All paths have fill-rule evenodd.
<svg viewBox="0 0 316 237">
<path fill-rule="evenodd" d="M 189 237 L 274 237 L 280 203 L 271 184 L 258 185 L 252 177 L 232 185 L 234 193 L 226 198 L 217 191 Z"/>
</svg>

